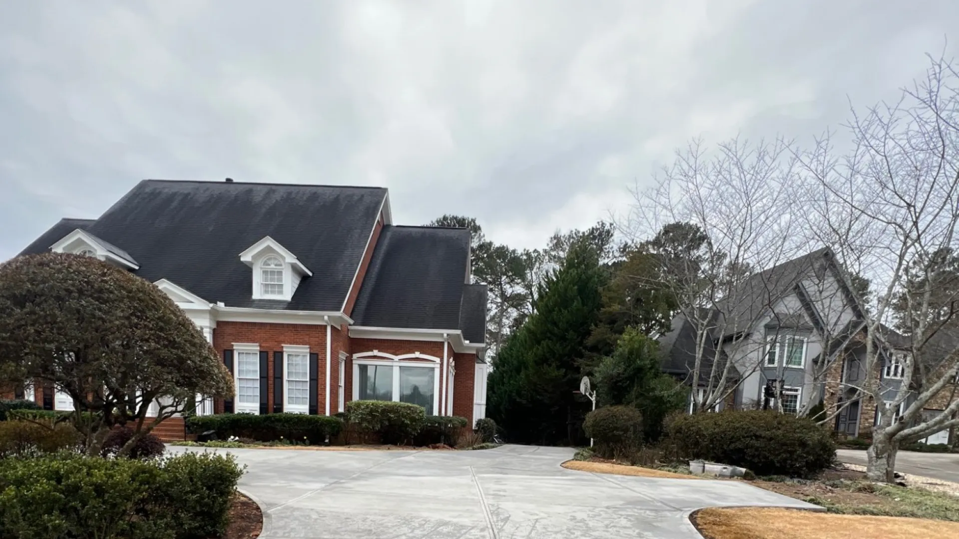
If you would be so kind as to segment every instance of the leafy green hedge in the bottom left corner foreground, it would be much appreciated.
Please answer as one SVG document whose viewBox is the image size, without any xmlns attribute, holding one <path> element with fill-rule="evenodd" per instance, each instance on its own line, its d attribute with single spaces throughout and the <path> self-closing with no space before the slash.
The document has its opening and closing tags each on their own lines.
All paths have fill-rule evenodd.
<svg viewBox="0 0 959 539">
<path fill-rule="evenodd" d="M 232 456 L 0 460 L 0 537 L 219 537 L 243 470 Z"/>
</svg>

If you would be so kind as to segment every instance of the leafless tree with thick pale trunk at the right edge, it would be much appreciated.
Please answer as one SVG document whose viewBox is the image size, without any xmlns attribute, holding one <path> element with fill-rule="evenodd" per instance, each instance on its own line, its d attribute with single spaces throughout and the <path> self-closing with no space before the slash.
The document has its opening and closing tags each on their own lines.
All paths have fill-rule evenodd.
<svg viewBox="0 0 959 539">
<path fill-rule="evenodd" d="M 867 475 L 892 480 L 902 444 L 959 425 L 959 400 L 942 400 L 959 371 L 959 287 L 935 264 L 959 247 L 959 74 L 930 57 L 896 103 L 853 109 L 845 127 L 844 155 L 833 133 L 797 153 L 803 205 L 811 234 L 877 285 L 855 338 L 865 376 L 843 384 L 875 402 Z M 930 413 L 934 399 L 943 410 Z"/>
</svg>

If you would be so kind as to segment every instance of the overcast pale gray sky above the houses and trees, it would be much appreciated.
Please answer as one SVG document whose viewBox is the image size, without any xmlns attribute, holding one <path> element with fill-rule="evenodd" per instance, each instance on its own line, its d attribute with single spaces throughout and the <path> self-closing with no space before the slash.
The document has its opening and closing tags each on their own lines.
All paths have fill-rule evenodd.
<svg viewBox="0 0 959 539">
<path fill-rule="evenodd" d="M 2 2 L 0 260 L 146 177 L 379 185 L 396 223 L 542 246 L 690 137 L 894 97 L 957 27 L 956 0 Z"/>
</svg>

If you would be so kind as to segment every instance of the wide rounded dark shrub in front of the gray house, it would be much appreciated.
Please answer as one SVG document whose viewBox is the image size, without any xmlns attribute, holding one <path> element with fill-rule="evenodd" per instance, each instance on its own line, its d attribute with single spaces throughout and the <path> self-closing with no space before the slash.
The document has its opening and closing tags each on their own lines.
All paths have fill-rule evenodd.
<svg viewBox="0 0 959 539">
<path fill-rule="evenodd" d="M 826 429 L 774 410 L 676 417 L 667 434 L 682 457 L 732 464 L 758 476 L 808 478 L 835 457 L 835 442 Z"/>
</svg>

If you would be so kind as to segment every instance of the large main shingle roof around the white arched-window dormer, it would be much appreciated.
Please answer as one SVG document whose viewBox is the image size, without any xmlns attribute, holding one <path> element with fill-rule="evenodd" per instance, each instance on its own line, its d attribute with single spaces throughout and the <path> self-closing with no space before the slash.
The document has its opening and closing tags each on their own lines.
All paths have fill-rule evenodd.
<svg viewBox="0 0 959 539">
<path fill-rule="evenodd" d="M 168 279 L 207 301 L 339 311 L 385 199 L 386 189 L 374 187 L 143 180 L 85 230 L 123 246 L 137 275 Z M 24 252 L 45 251 L 73 228 Z M 265 236 L 313 272 L 290 302 L 250 297 L 251 269 L 240 253 Z"/>
</svg>

